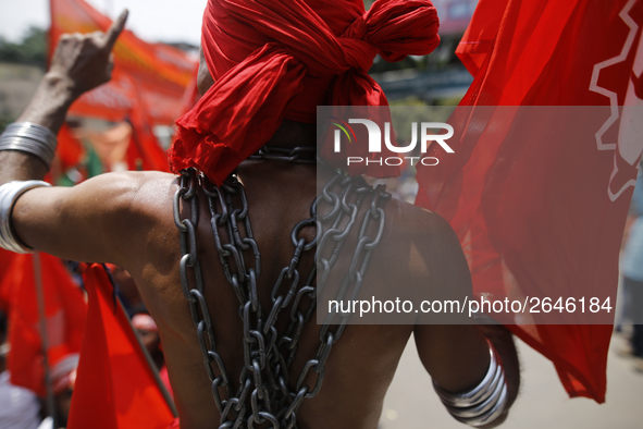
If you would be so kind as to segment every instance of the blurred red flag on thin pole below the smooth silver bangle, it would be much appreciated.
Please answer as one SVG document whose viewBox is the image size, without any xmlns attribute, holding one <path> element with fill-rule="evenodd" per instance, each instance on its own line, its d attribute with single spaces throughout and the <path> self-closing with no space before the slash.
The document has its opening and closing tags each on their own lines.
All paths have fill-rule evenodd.
<svg viewBox="0 0 643 429">
<path fill-rule="evenodd" d="M 78 353 L 83 339 L 86 304 L 60 259 L 40 254 L 45 297 L 48 361 L 54 367 L 62 358 Z M 11 382 L 45 396 L 45 370 L 40 316 L 33 255 L 15 255 L 2 283 L 13 293 L 10 303 L 9 370 Z"/>
</svg>

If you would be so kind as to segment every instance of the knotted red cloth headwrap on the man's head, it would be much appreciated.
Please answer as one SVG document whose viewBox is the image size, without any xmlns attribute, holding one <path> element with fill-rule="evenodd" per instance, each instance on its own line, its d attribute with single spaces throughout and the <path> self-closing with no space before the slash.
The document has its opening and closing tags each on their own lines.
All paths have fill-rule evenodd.
<svg viewBox="0 0 643 429">
<path fill-rule="evenodd" d="M 215 83 L 176 125 L 174 172 L 214 183 L 274 134 L 283 119 L 314 123 L 317 106 L 387 106 L 368 74 L 440 42 L 429 0 L 209 0 L 202 50 Z"/>
</svg>

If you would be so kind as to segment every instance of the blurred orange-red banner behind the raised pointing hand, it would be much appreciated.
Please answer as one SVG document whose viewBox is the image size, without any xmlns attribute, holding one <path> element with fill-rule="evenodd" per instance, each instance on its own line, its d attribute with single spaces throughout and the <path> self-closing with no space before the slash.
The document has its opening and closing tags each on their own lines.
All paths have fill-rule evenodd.
<svg viewBox="0 0 643 429">
<path fill-rule="evenodd" d="M 63 33 L 107 30 L 111 21 L 83 0 L 50 0 L 50 54 Z M 148 44 L 124 30 L 114 47 L 112 81 L 85 94 L 72 113 L 122 121 L 134 108 L 138 91 L 152 124 L 173 124 L 180 117 L 185 88 L 196 62 L 166 45 Z"/>
</svg>

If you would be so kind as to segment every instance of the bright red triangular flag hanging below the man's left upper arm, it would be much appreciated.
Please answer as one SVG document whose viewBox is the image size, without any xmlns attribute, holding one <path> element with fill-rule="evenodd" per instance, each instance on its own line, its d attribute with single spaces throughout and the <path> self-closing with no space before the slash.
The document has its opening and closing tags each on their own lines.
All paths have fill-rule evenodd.
<svg viewBox="0 0 643 429">
<path fill-rule="evenodd" d="M 174 416 L 102 267 L 87 269 L 85 286 L 89 310 L 67 427 L 168 428 Z"/>
</svg>

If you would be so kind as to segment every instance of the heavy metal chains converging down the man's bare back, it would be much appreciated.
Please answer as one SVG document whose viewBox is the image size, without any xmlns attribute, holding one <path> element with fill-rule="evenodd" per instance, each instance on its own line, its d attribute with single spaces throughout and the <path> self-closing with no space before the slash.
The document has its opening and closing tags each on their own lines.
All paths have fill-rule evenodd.
<svg viewBox="0 0 643 429">
<path fill-rule="evenodd" d="M 244 327 L 244 368 L 238 379 L 239 388 L 234 394 L 223 359 L 217 353 L 197 258 L 198 198 L 195 196 L 199 185 L 208 198 L 212 234 L 223 272 L 239 301 L 239 317 Z M 212 382 L 214 404 L 221 413 L 220 429 L 236 429 L 242 426 L 255 428 L 256 425 L 265 422 L 270 422 L 274 429 L 297 428 L 297 409 L 305 399 L 314 397 L 319 393 L 325 375 L 325 363 L 333 345 L 342 336 L 349 315 L 330 314 L 326 317 L 320 328 L 318 352 L 306 361 L 296 382 L 290 382 L 288 369 L 296 356 L 304 326 L 317 308 L 318 293 L 325 286 L 346 238 L 358 224 L 359 209 L 369 196 L 371 207 L 361 221 L 348 273 L 336 294 L 337 301 L 344 298 L 348 292 L 351 297 L 357 297 L 371 254 L 382 238 L 385 222 L 382 206 L 391 195 L 383 185 L 373 191 L 359 176 L 336 175 L 312 203 L 310 218 L 300 221 L 293 229 L 290 240 L 295 247 L 294 255 L 289 265 L 281 270 L 271 290 L 270 310 L 263 311 L 257 290 L 257 279 L 261 274 L 261 256 L 252 234 L 244 186 L 234 175 L 224 185 L 217 187 L 208 186 L 194 169 L 182 172 L 181 187 L 174 195 L 174 221 L 181 234 L 181 284 L 197 327 L 206 369 Z M 181 200 L 189 204 L 189 218 L 181 218 Z M 327 207 L 326 212 L 319 217 L 318 205 Z M 367 235 L 371 224 L 378 228 L 374 237 Z M 317 228 L 317 234 L 311 242 L 307 242 L 300 234 L 304 229 L 311 226 Z M 313 249 L 316 263 L 310 272 L 301 275 L 298 270 L 299 261 L 304 253 Z M 250 254 L 254 260 L 248 263 L 246 255 Z M 195 279 L 194 284 L 190 282 L 190 271 Z M 280 312 L 288 306 L 287 328 L 280 334 L 275 324 Z M 335 320 L 337 318 L 338 321 Z M 332 322 L 334 323 L 331 324 Z M 309 377 L 314 377 L 314 382 L 307 382 Z M 221 390 L 225 397 L 222 397 Z"/>
</svg>

